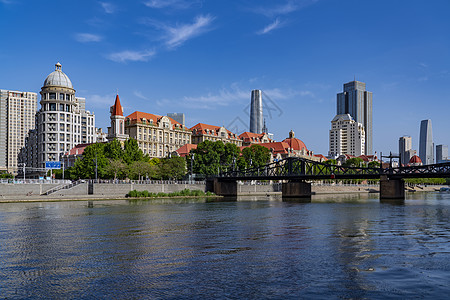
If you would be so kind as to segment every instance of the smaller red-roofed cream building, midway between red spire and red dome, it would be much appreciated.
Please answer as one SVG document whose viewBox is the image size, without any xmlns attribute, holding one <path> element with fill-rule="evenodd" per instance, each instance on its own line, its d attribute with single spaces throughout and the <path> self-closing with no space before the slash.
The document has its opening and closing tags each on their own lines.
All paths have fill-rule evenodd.
<svg viewBox="0 0 450 300">
<path fill-rule="evenodd" d="M 237 134 L 229 131 L 225 127 L 198 123 L 191 128 L 192 143 L 200 144 L 203 141 L 222 141 L 224 143 L 233 143 L 238 147 L 242 146 L 242 140 Z"/>
</svg>

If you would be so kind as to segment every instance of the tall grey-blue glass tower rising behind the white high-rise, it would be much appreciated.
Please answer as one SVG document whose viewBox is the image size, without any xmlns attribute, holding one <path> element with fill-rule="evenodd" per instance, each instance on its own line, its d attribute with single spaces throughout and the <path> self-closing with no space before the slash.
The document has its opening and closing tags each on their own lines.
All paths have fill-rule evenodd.
<svg viewBox="0 0 450 300">
<path fill-rule="evenodd" d="M 372 144 L 372 92 L 366 91 L 366 84 L 351 81 L 344 84 L 344 91 L 337 94 L 337 115 L 350 114 L 355 122 L 361 123 L 366 132 L 366 155 L 371 155 Z"/>
</svg>

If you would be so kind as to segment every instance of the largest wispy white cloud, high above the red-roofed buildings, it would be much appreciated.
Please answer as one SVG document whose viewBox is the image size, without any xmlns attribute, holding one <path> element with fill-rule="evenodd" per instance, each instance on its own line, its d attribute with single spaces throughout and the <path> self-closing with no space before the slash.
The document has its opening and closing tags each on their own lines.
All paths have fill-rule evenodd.
<svg viewBox="0 0 450 300">
<path fill-rule="evenodd" d="M 164 26 L 163 29 L 167 34 L 166 45 L 169 48 L 175 48 L 187 40 L 209 31 L 213 20 L 214 17 L 206 15 L 196 17 L 192 24 L 183 24 L 175 27 Z"/>
</svg>

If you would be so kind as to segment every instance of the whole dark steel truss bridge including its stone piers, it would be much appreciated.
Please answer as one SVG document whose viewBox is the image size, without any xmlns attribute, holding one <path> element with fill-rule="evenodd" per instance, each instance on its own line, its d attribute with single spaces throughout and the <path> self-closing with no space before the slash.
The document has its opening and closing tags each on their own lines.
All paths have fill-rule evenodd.
<svg viewBox="0 0 450 300">
<path fill-rule="evenodd" d="M 380 199 L 404 199 L 405 178 L 448 178 L 450 163 L 396 168 L 346 167 L 289 157 L 261 167 L 231 170 L 211 178 L 210 190 L 217 195 L 236 196 L 237 181 L 282 181 L 283 198 L 310 198 L 311 181 L 338 179 L 380 179 Z"/>
</svg>

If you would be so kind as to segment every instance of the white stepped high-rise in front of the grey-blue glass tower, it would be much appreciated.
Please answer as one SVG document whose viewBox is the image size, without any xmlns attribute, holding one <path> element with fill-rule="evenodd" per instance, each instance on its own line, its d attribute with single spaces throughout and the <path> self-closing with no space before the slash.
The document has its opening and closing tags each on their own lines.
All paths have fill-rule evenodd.
<svg viewBox="0 0 450 300">
<path fill-rule="evenodd" d="M 363 155 L 365 137 L 364 126 L 356 122 L 350 114 L 336 115 L 331 121 L 328 157 L 337 158 L 345 154 L 355 157 Z"/>
</svg>

